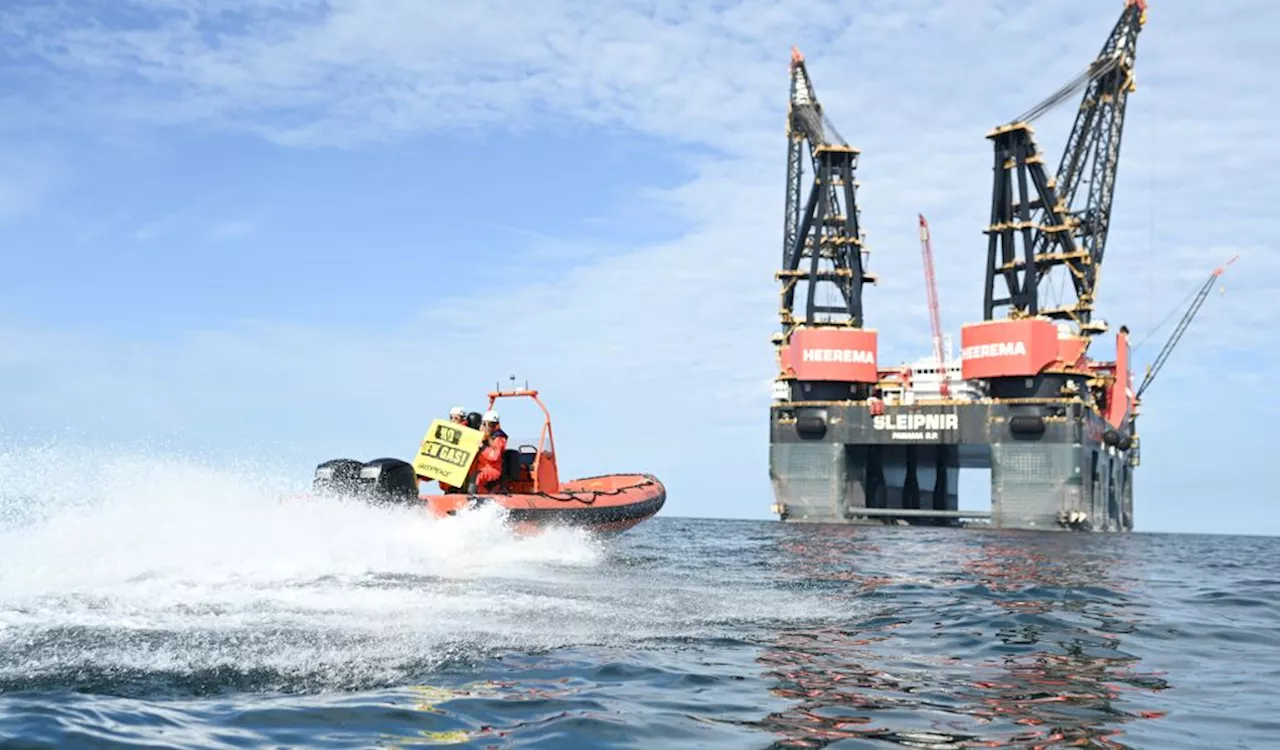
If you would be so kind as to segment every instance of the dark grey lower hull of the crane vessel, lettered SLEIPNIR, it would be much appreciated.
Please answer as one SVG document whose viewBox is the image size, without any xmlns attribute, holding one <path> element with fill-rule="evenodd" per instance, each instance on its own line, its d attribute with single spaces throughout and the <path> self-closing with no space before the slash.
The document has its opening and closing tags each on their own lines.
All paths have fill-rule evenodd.
<svg viewBox="0 0 1280 750">
<path fill-rule="evenodd" d="M 1080 403 L 792 402 L 771 413 L 783 521 L 1133 530 L 1135 443 Z M 991 470 L 989 513 L 959 511 L 959 470 Z"/>
</svg>

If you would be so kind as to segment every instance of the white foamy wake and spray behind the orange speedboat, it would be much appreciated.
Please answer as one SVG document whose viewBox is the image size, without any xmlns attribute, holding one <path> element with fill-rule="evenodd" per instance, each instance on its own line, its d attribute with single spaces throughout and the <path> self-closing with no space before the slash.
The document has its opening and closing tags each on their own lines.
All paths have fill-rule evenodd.
<svg viewBox="0 0 1280 750">
<path fill-rule="evenodd" d="M 349 687 L 553 648 L 573 628 L 549 627 L 566 602 L 547 584 L 605 555 L 497 511 L 282 503 L 261 474 L 0 454 L 0 691 Z"/>
</svg>

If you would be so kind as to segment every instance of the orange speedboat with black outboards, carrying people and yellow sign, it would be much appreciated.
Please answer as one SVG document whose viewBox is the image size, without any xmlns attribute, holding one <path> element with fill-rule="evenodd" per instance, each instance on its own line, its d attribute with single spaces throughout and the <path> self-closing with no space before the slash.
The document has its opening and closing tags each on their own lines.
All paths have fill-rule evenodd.
<svg viewBox="0 0 1280 750">
<path fill-rule="evenodd" d="M 609 474 L 568 481 L 559 480 L 552 417 L 536 390 L 494 390 L 489 408 L 502 398 L 529 398 L 541 410 L 544 421 L 538 444 L 511 447 L 502 456 L 498 489 L 489 494 L 474 490 L 472 465 L 481 449 L 480 415 L 468 424 L 431 422 L 412 462 L 376 458 L 361 462 L 334 458 L 316 467 L 312 489 L 358 497 L 375 504 L 421 506 L 435 518 L 457 516 L 481 506 L 498 506 L 520 531 L 545 526 L 573 526 L 595 532 L 625 531 L 662 509 L 667 490 L 649 474 Z M 440 481 L 463 490 L 443 491 Z"/>
</svg>

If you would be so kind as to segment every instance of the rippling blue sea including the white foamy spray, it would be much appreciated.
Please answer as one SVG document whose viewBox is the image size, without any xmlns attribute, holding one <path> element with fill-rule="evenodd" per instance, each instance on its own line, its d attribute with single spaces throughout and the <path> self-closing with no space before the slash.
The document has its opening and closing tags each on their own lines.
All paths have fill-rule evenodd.
<svg viewBox="0 0 1280 750">
<path fill-rule="evenodd" d="M 1280 747 L 1280 539 L 520 538 L 54 453 L 0 456 L 0 747 Z"/>
</svg>

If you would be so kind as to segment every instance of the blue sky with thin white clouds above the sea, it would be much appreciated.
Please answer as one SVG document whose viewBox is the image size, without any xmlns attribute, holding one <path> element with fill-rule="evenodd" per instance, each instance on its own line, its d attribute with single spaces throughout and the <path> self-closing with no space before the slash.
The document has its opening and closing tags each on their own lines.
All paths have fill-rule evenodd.
<svg viewBox="0 0 1280 750">
<path fill-rule="evenodd" d="M 768 517 L 790 45 L 863 150 L 887 363 L 929 346 L 916 212 L 959 338 L 983 134 L 1083 69 L 1120 8 L 6 3 L 4 438 L 252 453 L 305 480 L 407 454 L 515 374 L 564 474 L 652 471 L 672 515 Z M 1242 255 L 1148 392 L 1139 530 L 1280 534 L 1277 20 L 1153 3 L 1139 40 L 1101 316 L 1140 339 Z M 1037 123 L 1052 164 L 1074 106 Z"/>
</svg>

